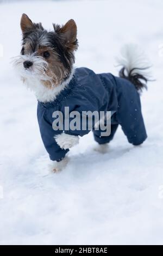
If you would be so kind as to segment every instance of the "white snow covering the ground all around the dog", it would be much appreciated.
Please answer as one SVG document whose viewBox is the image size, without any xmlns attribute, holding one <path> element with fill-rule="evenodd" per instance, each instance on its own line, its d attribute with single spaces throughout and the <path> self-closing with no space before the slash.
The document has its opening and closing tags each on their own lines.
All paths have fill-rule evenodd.
<svg viewBox="0 0 163 256">
<path fill-rule="evenodd" d="M 161 0 L 0 4 L 1 245 L 162 245 L 162 8 Z M 143 145 L 130 145 L 119 128 L 102 155 L 93 151 L 90 133 L 70 151 L 65 170 L 49 172 L 36 99 L 10 64 L 20 52 L 22 13 L 49 29 L 73 18 L 76 66 L 96 72 L 116 75 L 114 57 L 126 42 L 145 48 L 156 81 L 141 97 L 148 132 Z"/>
</svg>

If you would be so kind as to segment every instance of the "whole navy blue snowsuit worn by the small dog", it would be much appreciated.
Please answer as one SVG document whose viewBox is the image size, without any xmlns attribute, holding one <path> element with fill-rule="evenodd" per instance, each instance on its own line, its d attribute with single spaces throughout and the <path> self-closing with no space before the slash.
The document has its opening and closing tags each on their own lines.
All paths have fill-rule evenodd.
<svg viewBox="0 0 163 256">
<path fill-rule="evenodd" d="M 72 111 L 111 111 L 111 134 L 101 137 L 101 131 L 93 129 L 95 141 L 99 144 L 109 143 L 120 124 L 128 142 L 142 144 L 147 138 L 145 124 L 141 113 L 140 96 L 130 81 L 111 74 L 95 74 L 87 68 L 77 68 L 68 86 L 60 92 L 53 102 L 38 102 L 37 119 L 43 144 L 53 161 L 61 161 L 68 149 L 61 149 L 54 137 L 63 131 L 54 131 L 52 117 L 55 111 L 64 114 L 65 107 Z M 69 135 L 84 136 L 90 130 L 68 130 Z"/>
</svg>

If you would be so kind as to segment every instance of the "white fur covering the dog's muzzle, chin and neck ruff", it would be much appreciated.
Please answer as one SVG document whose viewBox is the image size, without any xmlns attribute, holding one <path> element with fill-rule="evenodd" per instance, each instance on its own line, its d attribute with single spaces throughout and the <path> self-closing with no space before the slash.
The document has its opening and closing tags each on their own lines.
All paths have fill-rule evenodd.
<svg viewBox="0 0 163 256">
<path fill-rule="evenodd" d="M 23 62 L 26 60 L 33 62 L 32 70 L 24 69 Z M 47 88 L 43 85 L 41 80 L 51 82 L 51 78 L 45 73 L 48 63 L 42 57 L 34 56 L 34 54 L 30 56 L 21 55 L 13 58 L 12 62 L 16 72 L 21 76 L 26 87 L 34 92 L 38 101 L 43 103 L 54 101 L 61 90 L 64 90 L 68 83 L 70 83 L 74 74 L 74 68 L 72 68 L 71 74 L 67 80 L 58 86 L 52 84 L 51 88 Z"/>
</svg>

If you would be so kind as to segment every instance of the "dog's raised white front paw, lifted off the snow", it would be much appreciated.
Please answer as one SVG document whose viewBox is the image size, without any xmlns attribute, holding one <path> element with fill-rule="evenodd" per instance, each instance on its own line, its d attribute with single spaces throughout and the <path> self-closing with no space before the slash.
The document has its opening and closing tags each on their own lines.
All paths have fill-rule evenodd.
<svg viewBox="0 0 163 256">
<path fill-rule="evenodd" d="M 61 149 L 70 149 L 79 143 L 79 137 L 61 133 L 54 137 L 55 141 Z"/>
</svg>

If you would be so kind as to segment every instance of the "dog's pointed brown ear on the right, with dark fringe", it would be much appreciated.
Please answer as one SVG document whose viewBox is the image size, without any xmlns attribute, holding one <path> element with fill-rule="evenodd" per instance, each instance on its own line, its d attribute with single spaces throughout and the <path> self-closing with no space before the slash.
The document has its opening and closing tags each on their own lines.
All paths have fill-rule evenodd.
<svg viewBox="0 0 163 256">
<path fill-rule="evenodd" d="M 70 50 L 77 50 L 77 25 L 74 20 L 69 20 L 63 26 L 53 24 L 54 31 L 62 36 L 65 41 L 66 47 Z"/>
</svg>

